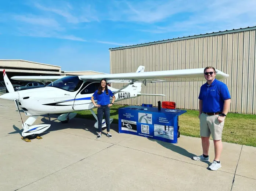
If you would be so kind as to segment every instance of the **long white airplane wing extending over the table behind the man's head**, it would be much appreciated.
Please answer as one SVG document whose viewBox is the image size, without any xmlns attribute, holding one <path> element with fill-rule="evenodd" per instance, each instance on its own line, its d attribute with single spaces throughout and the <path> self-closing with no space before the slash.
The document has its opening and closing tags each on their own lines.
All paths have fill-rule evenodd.
<svg viewBox="0 0 256 191">
<path fill-rule="evenodd" d="M 186 82 L 186 81 L 205 81 L 203 75 L 204 68 L 167 70 L 154 72 L 134 72 L 121 74 L 99 74 L 99 75 L 81 75 L 82 80 L 101 80 L 106 79 L 109 83 L 130 83 L 136 82 Z M 228 78 L 228 74 L 216 70 L 216 79 L 223 80 Z"/>
</svg>

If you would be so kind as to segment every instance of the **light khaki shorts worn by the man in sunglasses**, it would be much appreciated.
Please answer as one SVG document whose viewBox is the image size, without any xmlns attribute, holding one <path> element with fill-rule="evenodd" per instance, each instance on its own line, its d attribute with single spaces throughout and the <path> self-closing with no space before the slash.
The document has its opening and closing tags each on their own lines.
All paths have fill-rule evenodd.
<svg viewBox="0 0 256 191">
<path fill-rule="evenodd" d="M 220 115 L 200 115 L 200 136 L 209 137 L 212 134 L 213 140 L 221 140 L 224 121 L 219 123 Z"/>
</svg>

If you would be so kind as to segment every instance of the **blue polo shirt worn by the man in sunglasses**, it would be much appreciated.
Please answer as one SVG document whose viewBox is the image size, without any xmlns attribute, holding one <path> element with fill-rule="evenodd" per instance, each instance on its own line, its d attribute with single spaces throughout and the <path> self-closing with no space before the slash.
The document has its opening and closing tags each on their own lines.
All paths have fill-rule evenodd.
<svg viewBox="0 0 256 191">
<path fill-rule="evenodd" d="M 201 86 L 198 99 L 203 101 L 203 112 L 222 112 L 224 100 L 230 99 L 230 93 L 226 84 L 214 79 L 211 85 L 206 82 Z"/>
</svg>

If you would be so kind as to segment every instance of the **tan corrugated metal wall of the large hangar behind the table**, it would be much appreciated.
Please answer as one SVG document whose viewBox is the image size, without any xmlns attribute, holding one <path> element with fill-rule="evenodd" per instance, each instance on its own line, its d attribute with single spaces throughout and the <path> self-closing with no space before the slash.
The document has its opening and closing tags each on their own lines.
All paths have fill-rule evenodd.
<svg viewBox="0 0 256 191">
<path fill-rule="evenodd" d="M 256 114 L 256 30 L 110 49 L 111 73 L 204 68 L 212 65 L 230 75 L 223 82 L 231 94 L 231 112 Z M 140 96 L 120 104 L 141 105 L 174 101 L 177 108 L 198 110 L 200 86 L 205 82 L 165 82 L 143 85 L 142 93 L 165 94 Z M 123 84 L 124 85 L 124 84 Z M 112 84 L 120 87 L 120 84 Z"/>
</svg>

